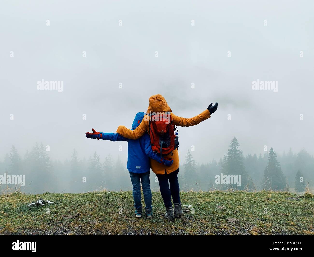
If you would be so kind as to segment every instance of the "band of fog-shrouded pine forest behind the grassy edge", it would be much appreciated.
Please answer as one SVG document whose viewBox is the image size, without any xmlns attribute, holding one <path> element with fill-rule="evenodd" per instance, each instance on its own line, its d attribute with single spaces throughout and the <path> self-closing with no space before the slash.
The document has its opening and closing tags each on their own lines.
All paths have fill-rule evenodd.
<svg viewBox="0 0 314 257">
<path fill-rule="evenodd" d="M 263 155 L 251 153 L 244 156 L 240 143 L 234 137 L 223 157 L 205 163 L 197 163 L 192 150 L 181 153 L 179 149 L 180 155 L 185 157 L 180 163 L 178 175 L 183 191 L 271 189 L 303 192 L 306 187 L 311 187 L 314 179 L 314 158 L 305 148 L 295 153 L 290 148 L 282 154 L 271 148 Z M 36 143 L 24 156 L 12 146 L 0 163 L 0 169 L 1 174 L 25 175 L 24 187 L 15 185 L 13 189 L 18 188 L 26 193 L 132 190 L 126 163 L 119 157 L 113 158 L 111 154 L 103 156 L 96 152 L 80 157 L 79 152 L 73 149 L 68 158 L 61 162 L 50 158 L 43 143 Z M 241 186 L 215 183 L 216 176 L 221 173 L 241 175 Z M 303 182 L 300 182 L 300 177 Z M 151 172 L 152 190 L 159 190 L 157 182 L 157 177 Z M 5 185 L 1 186 L 2 190 L 6 189 Z"/>
</svg>

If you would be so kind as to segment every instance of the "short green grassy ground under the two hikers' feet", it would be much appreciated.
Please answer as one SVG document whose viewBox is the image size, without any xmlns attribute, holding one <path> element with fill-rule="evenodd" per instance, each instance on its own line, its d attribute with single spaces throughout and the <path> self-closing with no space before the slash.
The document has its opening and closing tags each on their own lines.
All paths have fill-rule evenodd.
<svg viewBox="0 0 314 257">
<path fill-rule="evenodd" d="M 295 199 L 286 199 L 295 197 Z M 134 216 L 132 192 L 0 196 L 0 234 L 314 234 L 314 199 L 283 192 L 188 192 L 183 205 L 195 213 L 168 222 L 159 192 L 153 192 L 152 219 Z M 27 205 L 39 198 L 49 206 Z M 219 209 L 217 206 L 224 206 Z M 46 213 L 50 208 L 50 214 Z M 122 208 L 122 214 L 119 214 Z M 267 214 L 264 213 L 267 208 Z M 80 213 L 78 218 L 68 215 Z M 228 222 L 236 218 L 236 223 Z"/>
</svg>

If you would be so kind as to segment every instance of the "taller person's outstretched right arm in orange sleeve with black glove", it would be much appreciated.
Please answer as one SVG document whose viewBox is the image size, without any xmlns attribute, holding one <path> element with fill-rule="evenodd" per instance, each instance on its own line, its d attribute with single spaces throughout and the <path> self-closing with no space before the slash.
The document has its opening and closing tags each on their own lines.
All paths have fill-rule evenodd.
<svg viewBox="0 0 314 257">
<path fill-rule="evenodd" d="M 196 115 L 192 118 L 183 118 L 180 116 L 176 116 L 173 113 L 172 115 L 172 119 L 173 122 L 176 126 L 180 126 L 180 127 L 190 127 L 190 126 L 195 126 L 198 123 L 201 123 L 203 120 L 207 120 L 210 117 L 210 114 L 213 114 L 218 107 L 218 103 L 216 103 L 214 106 L 212 106 L 213 103 L 211 103 L 207 110 L 204 110 L 201 114 Z"/>
</svg>

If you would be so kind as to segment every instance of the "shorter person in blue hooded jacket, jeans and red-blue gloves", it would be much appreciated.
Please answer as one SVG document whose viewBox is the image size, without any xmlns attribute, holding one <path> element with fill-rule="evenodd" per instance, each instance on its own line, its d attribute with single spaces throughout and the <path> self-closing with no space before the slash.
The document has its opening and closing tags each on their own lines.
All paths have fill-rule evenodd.
<svg viewBox="0 0 314 257">
<path fill-rule="evenodd" d="M 143 112 L 136 114 L 132 129 L 138 127 L 144 117 Z M 92 129 L 93 133 L 86 132 L 85 136 L 88 138 L 97 138 L 110 141 L 127 141 L 127 169 L 130 172 L 130 177 L 133 185 L 133 199 L 135 207 L 135 216 L 142 217 L 142 203 L 141 203 L 141 183 L 145 201 L 145 216 L 147 218 L 153 217 L 152 211 L 152 192 L 149 185 L 149 170 L 150 160 L 171 166 L 173 159 L 160 158 L 159 154 L 155 154 L 152 150 L 150 137 L 145 133 L 142 137 L 132 140 L 122 137 L 117 133 L 102 133 Z"/>
</svg>

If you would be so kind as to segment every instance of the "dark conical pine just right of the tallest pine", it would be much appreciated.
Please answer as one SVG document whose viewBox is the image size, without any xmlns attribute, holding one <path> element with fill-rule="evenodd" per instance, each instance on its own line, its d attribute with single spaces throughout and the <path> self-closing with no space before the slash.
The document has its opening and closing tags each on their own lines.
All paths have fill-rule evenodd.
<svg viewBox="0 0 314 257">
<path fill-rule="evenodd" d="M 268 163 L 264 171 L 263 179 L 264 189 L 267 190 L 283 190 L 288 186 L 273 148 L 269 150 Z"/>
</svg>

